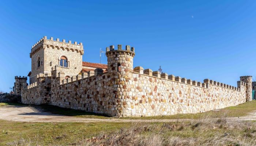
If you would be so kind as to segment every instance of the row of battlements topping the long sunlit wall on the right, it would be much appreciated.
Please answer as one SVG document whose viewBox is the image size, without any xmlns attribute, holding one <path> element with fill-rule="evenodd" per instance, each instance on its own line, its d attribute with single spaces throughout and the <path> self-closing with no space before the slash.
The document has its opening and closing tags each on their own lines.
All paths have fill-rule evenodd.
<svg viewBox="0 0 256 146">
<path fill-rule="evenodd" d="M 193 86 L 197 86 L 197 87 L 201 87 L 201 88 L 208 88 L 207 84 L 211 84 L 211 85 L 216 85 L 219 87 L 223 87 L 223 88 L 227 88 L 227 89 L 231 89 L 231 90 L 236 90 L 236 91 L 240 91 L 240 87 L 245 86 L 246 83 L 243 81 L 237 81 L 237 86 L 238 87 L 234 87 L 234 86 L 230 86 L 230 85 L 226 85 L 223 84 L 221 82 L 217 82 L 217 81 L 213 81 L 213 80 L 209 80 L 209 79 L 204 79 L 204 82 L 197 82 L 195 80 L 191 80 L 191 79 L 187 79 L 187 78 L 181 78 L 179 76 L 174 76 L 174 75 L 168 75 L 167 73 L 160 73 L 158 71 L 152 71 L 151 69 L 143 69 L 143 67 L 141 66 L 137 66 L 133 69 L 133 72 L 135 73 L 139 73 L 139 74 L 144 74 L 146 76 L 152 76 L 152 77 L 156 77 L 156 78 L 161 78 L 164 80 L 170 80 L 173 82 L 180 82 L 183 84 L 189 84 L 189 85 L 193 85 Z"/>
</svg>

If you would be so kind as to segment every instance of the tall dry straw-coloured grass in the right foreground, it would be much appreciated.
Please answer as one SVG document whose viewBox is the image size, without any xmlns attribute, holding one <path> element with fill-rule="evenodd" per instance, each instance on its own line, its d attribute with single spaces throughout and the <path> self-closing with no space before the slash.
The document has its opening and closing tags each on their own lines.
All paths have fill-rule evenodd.
<svg viewBox="0 0 256 146">
<path fill-rule="evenodd" d="M 124 123 L 121 123 L 124 124 Z M 196 122 L 173 123 L 127 123 L 129 126 L 112 132 L 95 131 L 94 135 L 77 135 L 70 142 L 68 133 L 54 134 L 53 141 L 43 143 L 33 137 L 19 138 L 7 145 L 76 145 L 76 146 L 254 146 L 256 145 L 256 122 L 217 121 L 200 119 Z M 100 126 L 100 125 L 99 125 Z M 65 127 L 63 127 L 65 128 Z M 51 134 L 51 133 L 50 133 Z M 34 137 L 38 137 L 34 135 Z"/>
</svg>

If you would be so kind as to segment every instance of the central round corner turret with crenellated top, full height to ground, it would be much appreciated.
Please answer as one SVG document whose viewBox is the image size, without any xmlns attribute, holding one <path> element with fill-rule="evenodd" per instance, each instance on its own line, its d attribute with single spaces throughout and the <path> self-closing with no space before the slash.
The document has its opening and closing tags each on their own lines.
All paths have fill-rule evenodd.
<svg viewBox="0 0 256 146">
<path fill-rule="evenodd" d="M 108 72 L 114 81 L 114 100 L 116 101 L 116 112 L 114 116 L 126 116 L 125 110 L 128 108 L 129 91 L 131 90 L 133 57 L 135 56 L 134 47 L 126 46 L 122 50 L 122 45 L 118 45 L 117 50 L 114 46 L 106 48 L 108 57 Z"/>
</svg>

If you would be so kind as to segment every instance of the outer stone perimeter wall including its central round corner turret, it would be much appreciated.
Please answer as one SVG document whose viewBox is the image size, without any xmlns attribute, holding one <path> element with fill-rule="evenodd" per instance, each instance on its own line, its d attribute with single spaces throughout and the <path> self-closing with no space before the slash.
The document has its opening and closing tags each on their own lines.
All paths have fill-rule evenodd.
<svg viewBox="0 0 256 146">
<path fill-rule="evenodd" d="M 55 65 L 50 73 L 38 74 L 37 85 L 23 88 L 22 102 L 138 117 L 206 112 L 250 101 L 249 76 L 241 77 L 237 87 L 208 79 L 201 83 L 140 66 L 133 69 L 134 47 L 110 46 L 106 55 L 106 73 L 95 69 L 65 79 L 65 70 Z"/>
</svg>

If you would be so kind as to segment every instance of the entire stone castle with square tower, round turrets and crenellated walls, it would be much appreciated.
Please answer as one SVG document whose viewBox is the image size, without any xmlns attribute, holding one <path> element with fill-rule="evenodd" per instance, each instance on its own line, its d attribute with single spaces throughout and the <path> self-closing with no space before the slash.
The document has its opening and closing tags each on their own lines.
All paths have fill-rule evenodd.
<svg viewBox="0 0 256 146">
<path fill-rule="evenodd" d="M 252 100 L 252 76 L 237 87 L 192 81 L 141 66 L 134 47 L 106 48 L 108 64 L 83 62 L 82 43 L 42 38 L 32 46 L 29 85 L 16 76 L 14 92 L 25 104 L 51 104 L 109 116 L 157 116 L 206 112 Z"/>
</svg>

